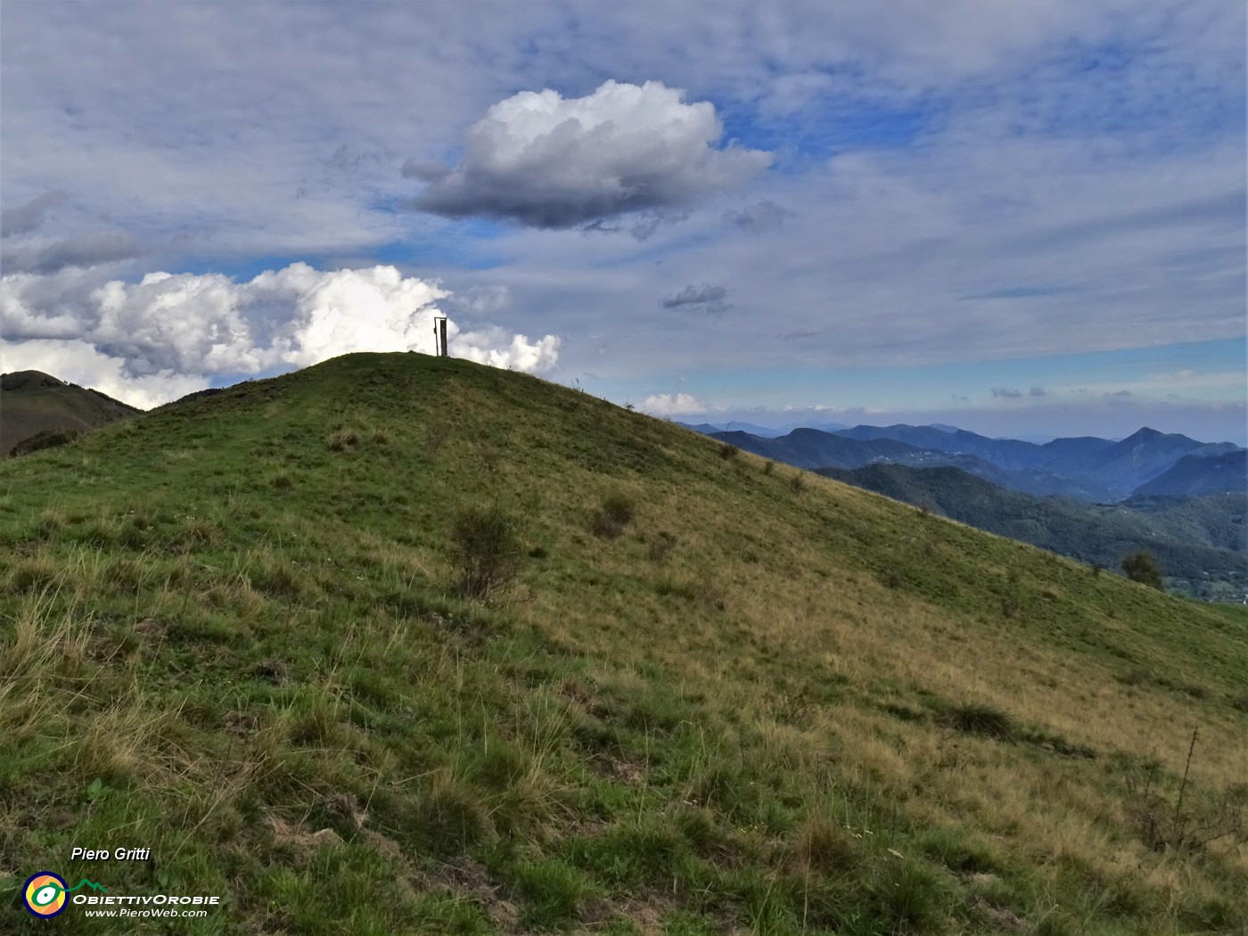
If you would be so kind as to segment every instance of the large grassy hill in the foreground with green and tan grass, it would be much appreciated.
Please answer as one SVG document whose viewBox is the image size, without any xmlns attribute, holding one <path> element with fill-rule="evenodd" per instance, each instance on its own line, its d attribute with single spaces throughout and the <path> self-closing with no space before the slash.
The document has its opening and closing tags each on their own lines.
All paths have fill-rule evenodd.
<svg viewBox="0 0 1248 936">
<path fill-rule="evenodd" d="M 0 464 L 0 931 L 42 869 L 223 896 L 74 932 L 1248 924 L 1242 609 L 532 377 L 165 407 Z"/>
</svg>

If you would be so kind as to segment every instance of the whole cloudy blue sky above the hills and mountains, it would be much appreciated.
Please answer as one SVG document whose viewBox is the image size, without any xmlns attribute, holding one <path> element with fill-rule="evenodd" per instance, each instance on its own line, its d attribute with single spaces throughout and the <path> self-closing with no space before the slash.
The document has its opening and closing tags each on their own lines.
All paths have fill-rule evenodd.
<svg viewBox="0 0 1248 936">
<path fill-rule="evenodd" d="M 1231 0 L 0 5 L 0 368 L 1248 442 Z"/>
</svg>

